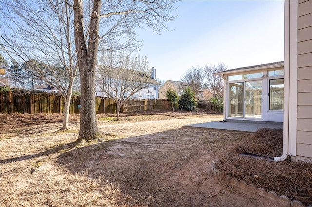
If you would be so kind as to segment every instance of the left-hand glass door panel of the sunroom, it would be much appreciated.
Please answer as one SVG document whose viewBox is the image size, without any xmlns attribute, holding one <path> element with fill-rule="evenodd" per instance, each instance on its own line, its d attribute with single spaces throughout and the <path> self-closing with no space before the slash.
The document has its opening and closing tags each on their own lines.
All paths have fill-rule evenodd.
<svg viewBox="0 0 312 207">
<path fill-rule="evenodd" d="M 244 116 L 244 83 L 229 84 L 229 117 Z"/>
</svg>

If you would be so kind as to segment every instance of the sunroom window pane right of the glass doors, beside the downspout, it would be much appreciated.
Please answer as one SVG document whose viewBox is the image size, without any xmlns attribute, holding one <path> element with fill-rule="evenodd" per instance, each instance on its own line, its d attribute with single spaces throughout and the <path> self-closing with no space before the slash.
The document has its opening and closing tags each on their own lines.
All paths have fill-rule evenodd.
<svg viewBox="0 0 312 207">
<path fill-rule="evenodd" d="M 284 79 L 272 79 L 270 82 L 269 92 L 269 109 L 284 109 Z"/>
</svg>

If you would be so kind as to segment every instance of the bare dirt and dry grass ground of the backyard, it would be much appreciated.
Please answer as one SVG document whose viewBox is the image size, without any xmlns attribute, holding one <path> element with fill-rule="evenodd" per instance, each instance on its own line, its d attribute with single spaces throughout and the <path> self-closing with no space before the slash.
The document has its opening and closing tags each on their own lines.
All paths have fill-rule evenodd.
<svg viewBox="0 0 312 207">
<path fill-rule="evenodd" d="M 75 145 L 79 123 L 3 127 L 0 206 L 272 207 L 233 192 L 211 173 L 250 133 L 181 128 L 221 115 L 138 115 L 98 120 L 101 142 Z M 16 123 L 11 121 L 11 123 Z"/>
</svg>

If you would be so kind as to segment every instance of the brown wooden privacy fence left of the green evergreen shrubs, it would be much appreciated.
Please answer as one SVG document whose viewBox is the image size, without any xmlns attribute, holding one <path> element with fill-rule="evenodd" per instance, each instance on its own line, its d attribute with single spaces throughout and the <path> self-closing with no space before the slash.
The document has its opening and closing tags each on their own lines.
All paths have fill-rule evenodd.
<svg viewBox="0 0 312 207">
<path fill-rule="evenodd" d="M 1 113 L 63 113 L 65 98 L 54 93 L 24 93 L 12 91 L 0 93 Z M 73 96 L 70 103 L 70 114 L 80 113 L 80 97 Z M 168 100 L 128 100 L 121 112 L 138 112 L 170 109 Z M 96 97 L 96 113 L 116 113 L 116 103 L 112 99 Z"/>
</svg>

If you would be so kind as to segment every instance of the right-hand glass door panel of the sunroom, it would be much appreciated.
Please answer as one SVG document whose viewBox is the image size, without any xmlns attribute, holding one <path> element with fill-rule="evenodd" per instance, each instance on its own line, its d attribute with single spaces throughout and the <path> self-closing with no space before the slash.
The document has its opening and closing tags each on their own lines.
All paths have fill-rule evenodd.
<svg viewBox="0 0 312 207">
<path fill-rule="evenodd" d="M 261 119 L 262 81 L 246 81 L 245 94 L 245 118 Z"/>
</svg>

